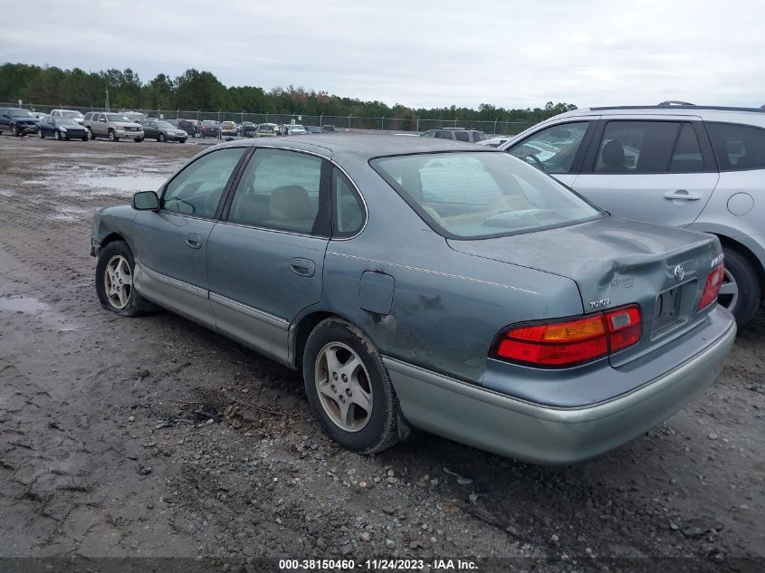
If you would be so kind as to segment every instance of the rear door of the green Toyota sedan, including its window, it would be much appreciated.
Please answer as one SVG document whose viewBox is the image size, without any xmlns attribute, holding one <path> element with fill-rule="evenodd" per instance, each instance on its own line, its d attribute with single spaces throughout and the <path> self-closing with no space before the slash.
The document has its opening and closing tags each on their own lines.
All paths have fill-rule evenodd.
<svg viewBox="0 0 765 573">
<path fill-rule="evenodd" d="M 257 149 L 207 243 L 217 328 L 282 361 L 292 320 L 321 298 L 328 168 L 308 153 Z"/>
</svg>

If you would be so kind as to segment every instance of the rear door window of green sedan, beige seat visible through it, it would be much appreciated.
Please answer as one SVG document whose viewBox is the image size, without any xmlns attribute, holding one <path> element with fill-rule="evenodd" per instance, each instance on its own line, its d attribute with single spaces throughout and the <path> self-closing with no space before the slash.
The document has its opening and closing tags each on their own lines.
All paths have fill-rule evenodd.
<svg viewBox="0 0 765 573">
<path fill-rule="evenodd" d="M 315 156 L 258 149 L 244 169 L 228 221 L 301 234 L 328 234 L 321 206 L 321 167 Z M 320 215 L 321 212 L 321 215 Z"/>
</svg>

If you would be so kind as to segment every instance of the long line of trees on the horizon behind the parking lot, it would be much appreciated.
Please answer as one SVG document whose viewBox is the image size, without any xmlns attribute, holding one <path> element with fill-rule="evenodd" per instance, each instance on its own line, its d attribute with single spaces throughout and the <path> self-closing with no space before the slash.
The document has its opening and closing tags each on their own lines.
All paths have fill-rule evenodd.
<svg viewBox="0 0 765 573">
<path fill-rule="evenodd" d="M 569 103 L 549 101 L 544 108 L 505 109 L 482 103 L 478 109 L 456 106 L 414 109 L 401 104 L 364 101 L 288 86 L 265 91 L 256 86 L 226 87 L 212 72 L 190 68 L 176 78 L 164 73 L 143 82 L 129 68 L 85 72 L 25 63 L 0 66 L 0 101 L 61 104 L 102 108 L 109 90 L 110 107 L 117 110 L 228 110 L 247 113 L 355 116 L 359 118 L 460 119 L 461 121 L 521 121 L 542 119 L 575 110 Z"/>
</svg>

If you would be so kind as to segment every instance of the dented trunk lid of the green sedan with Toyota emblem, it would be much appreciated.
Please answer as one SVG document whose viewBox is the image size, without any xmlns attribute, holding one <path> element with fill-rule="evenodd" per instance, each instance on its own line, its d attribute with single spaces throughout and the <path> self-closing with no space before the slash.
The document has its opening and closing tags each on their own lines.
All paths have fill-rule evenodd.
<svg viewBox="0 0 765 573">
<path fill-rule="evenodd" d="M 643 334 L 612 355 L 621 366 L 677 338 L 703 320 L 697 311 L 707 276 L 722 263 L 713 235 L 604 216 L 557 229 L 469 241 L 456 251 L 568 277 L 586 314 L 636 303 Z"/>
</svg>

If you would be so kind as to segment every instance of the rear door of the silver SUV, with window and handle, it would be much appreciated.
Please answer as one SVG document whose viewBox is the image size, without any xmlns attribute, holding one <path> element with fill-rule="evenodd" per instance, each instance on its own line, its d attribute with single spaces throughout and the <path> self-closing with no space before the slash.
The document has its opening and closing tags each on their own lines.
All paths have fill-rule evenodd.
<svg viewBox="0 0 765 573">
<path fill-rule="evenodd" d="M 573 187 L 614 215 L 684 227 L 719 174 L 701 119 L 601 119 Z"/>
</svg>

